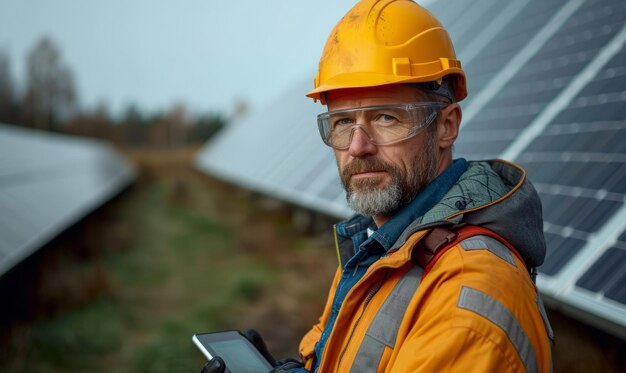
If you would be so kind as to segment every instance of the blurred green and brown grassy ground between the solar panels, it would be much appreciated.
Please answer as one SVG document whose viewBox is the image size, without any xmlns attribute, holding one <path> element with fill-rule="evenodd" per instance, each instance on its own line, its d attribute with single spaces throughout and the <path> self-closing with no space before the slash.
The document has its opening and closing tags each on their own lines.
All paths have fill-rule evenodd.
<svg viewBox="0 0 626 373">
<path fill-rule="evenodd" d="M 197 173 L 191 152 L 129 156 L 135 186 L 10 274 L 26 315 L 9 315 L 0 371 L 194 372 L 193 333 L 248 327 L 295 356 L 330 238 L 295 234 L 288 208 Z"/>
</svg>

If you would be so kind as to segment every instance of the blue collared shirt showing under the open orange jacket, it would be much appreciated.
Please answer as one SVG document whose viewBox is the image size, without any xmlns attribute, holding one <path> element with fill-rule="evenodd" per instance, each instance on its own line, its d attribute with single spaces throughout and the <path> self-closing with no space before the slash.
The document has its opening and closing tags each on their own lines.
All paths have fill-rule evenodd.
<svg viewBox="0 0 626 373">
<path fill-rule="evenodd" d="M 315 345 L 315 366 L 313 371 L 316 371 L 319 367 L 322 352 L 348 291 L 363 277 L 372 263 L 387 253 L 404 229 L 416 218 L 433 208 L 466 170 L 467 161 L 463 158 L 456 159 L 450 167 L 424 187 L 413 200 L 378 229 L 371 217 L 363 215 L 354 215 L 335 226 L 337 235 L 352 240 L 355 254 L 343 267 L 335 298 L 333 299 L 330 317 L 320 340 Z M 375 230 L 369 237 L 367 236 L 367 228 Z"/>
</svg>

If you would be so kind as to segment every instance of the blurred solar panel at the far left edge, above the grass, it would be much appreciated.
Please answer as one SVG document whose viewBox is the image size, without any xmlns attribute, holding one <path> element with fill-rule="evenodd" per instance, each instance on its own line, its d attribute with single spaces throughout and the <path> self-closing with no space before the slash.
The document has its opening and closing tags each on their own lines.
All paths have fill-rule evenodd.
<svg viewBox="0 0 626 373">
<path fill-rule="evenodd" d="M 133 178 L 102 141 L 0 125 L 0 275 Z"/>
</svg>

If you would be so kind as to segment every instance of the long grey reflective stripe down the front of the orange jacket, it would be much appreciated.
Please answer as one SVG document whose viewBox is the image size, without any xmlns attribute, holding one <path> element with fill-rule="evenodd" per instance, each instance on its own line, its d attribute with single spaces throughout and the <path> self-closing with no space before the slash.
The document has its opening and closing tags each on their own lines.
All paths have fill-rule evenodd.
<svg viewBox="0 0 626 373">
<path fill-rule="evenodd" d="M 351 372 L 376 372 L 385 346 L 394 348 L 406 308 L 417 291 L 422 268 L 412 267 L 398 281 L 376 313 L 354 358 Z"/>
</svg>

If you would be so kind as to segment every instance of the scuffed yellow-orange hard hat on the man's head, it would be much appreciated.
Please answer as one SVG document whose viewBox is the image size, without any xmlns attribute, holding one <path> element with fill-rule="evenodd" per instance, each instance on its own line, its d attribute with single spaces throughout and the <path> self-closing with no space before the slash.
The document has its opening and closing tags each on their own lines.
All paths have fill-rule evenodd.
<svg viewBox="0 0 626 373">
<path fill-rule="evenodd" d="M 331 32 L 307 96 L 387 84 L 441 82 L 456 101 L 467 96 L 465 73 L 439 21 L 410 0 L 363 0 Z"/>
</svg>

